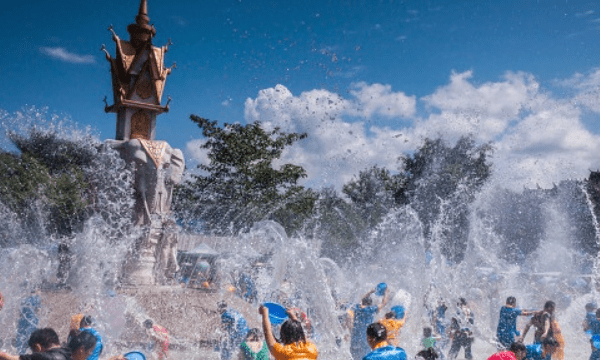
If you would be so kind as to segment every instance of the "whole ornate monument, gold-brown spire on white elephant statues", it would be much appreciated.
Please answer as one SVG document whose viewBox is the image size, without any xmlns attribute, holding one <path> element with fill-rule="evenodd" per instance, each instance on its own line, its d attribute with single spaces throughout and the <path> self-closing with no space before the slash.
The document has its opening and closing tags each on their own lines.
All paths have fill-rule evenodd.
<svg viewBox="0 0 600 360">
<path fill-rule="evenodd" d="M 109 28 L 116 56 L 102 50 L 110 62 L 114 104 L 105 111 L 117 114 L 115 140 L 107 144 L 135 169 L 134 223 L 142 236 L 130 249 L 123 283 L 130 286 L 168 284 L 177 272 L 177 226 L 171 214 L 173 187 L 181 182 L 183 153 L 166 141 L 156 140 L 156 116 L 169 110 L 161 105 L 163 89 L 172 68 L 165 68 L 169 44 L 152 46 L 156 34 L 148 17 L 148 1 L 141 0 L 135 23 L 127 27 L 129 41 Z M 106 99 L 105 99 L 106 102 Z"/>
</svg>

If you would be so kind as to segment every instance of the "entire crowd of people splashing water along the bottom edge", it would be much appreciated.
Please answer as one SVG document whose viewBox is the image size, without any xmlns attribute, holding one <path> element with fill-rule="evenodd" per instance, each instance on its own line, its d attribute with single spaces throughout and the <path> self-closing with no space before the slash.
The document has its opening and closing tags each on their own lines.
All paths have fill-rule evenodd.
<svg viewBox="0 0 600 360">
<path fill-rule="evenodd" d="M 375 303 L 373 294 L 381 296 L 381 300 Z M 37 294 L 33 299 L 29 297 L 23 302 L 28 310 L 21 311 L 21 320 L 27 320 L 27 323 L 18 322 L 15 341 L 21 355 L 0 352 L 0 360 L 100 359 L 104 345 L 91 316 L 73 315 L 67 341 L 61 343 L 53 329 L 32 326 L 38 324 L 36 312 L 31 310 L 32 307 L 37 307 L 39 301 L 36 299 L 39 299 Z M 388 302 L 389 289 L 387 286 L 378 286 L 365 294 L 359 304 L 348 309 L 349 319 L 340 318 L 350 328 L 350 354 L 353 360 L 407 359 L 406 352 L 400 347 L 400 331 L 406 323 L 404 306 L 391 306 L 389 312 L 376 319 Z M 217 308 L 221 315 L 221 330 L 226 334 L 226 340 L 219 347 L 221 360 L 312 360 L 319 356 L 315 342 L 311 341 L 311 322 L 306 313 L 298 308 L 286 309 L 287 319 L 282 324 L 273 326 L 269 308 L 261 305 L 258 314 L 262 321 L 262 331 L 249 328 L 244 316 L 230 309 L 226 303 L 219 303 Z M 563 360 L 565 342 L 555 317 L 555 309 L 555 303 L 547 301 L 541 310 L 523 310 L 517 307 L 515 297 L 508 297 L 499 312 L 495 339 L 498 352 L 489 356 L 488 360 Z M 590 339 L 589 359 L 600 360 L 600 309 L 595 303 L 588 303 L 585 309 L 583 331 Z M 468 301 L 459 298 L 455 309 L 448 311 L 445 301 L 440 298 L 430 313 L 430 324 L 423 328 L 422 349 L 414 358 L 454 360 L 462 350 L 466 359 L 472 359 L 475 316 Z M 522 332 L 517 329 L 519 316 L 529 317 Z M 142 326 L 154 342 L 152 357 L 166 360 L 169 357 L 168 331 L 152 320 L 144 321 Z M 278 337 L 275 335 L 275 327 L 279 328 Z M 526 335 L 532 327 L 533 342 L 525 344 Z M 29 354 L 25 354 L 27 349 L 22 349 L 24 338 L 27 338 Z M 125 359 L 129 359 L 127 354 L 110 358 Z"/>
</svg>

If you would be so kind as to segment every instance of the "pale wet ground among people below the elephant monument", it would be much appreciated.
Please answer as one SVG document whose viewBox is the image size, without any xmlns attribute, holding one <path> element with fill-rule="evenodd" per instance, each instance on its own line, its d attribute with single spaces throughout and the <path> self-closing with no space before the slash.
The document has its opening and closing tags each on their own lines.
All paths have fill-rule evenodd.
<svg viewBox="0 0 600 360">
<path fill-rule="evenodd" d="M 103 323 L 105 338 L 103 357 L 132 350 L 149 354 L 148 346 L 152 340 L 141 323 L 151 318 L 169 331 L 170 359 L 217 360 L 221 337 L 217 303 L 222 300 L 242 313 L 249 327 L 260 328 L 257 305 L 249 304 L 227 291 L 217 293 L 179 286 L 164 286 L 121 289 L 112 295 L 112 297 L 103 297 L 102 301 L 97 301 L 97 305 L 88 311 Z M 71 315 L 80 309 L 81 304 L 91 300 L 69 290 L 44 291 L 40 297 L 42 311 L 39 326 L 54 328 L 61 340 L 67 338 Z M 3 311 L 0 315 L 9 314 Z M 15 328 L 0 328 L 0 338 L 11 339 L 15 331 Z M 411 335 L 403 333 L 402 336 L 408 338 Z M 2 348 L 10 351 L 7 345 L 4 344 Z M 413 349 L 405 349 L 409 357 L 416 352 Z M 473 355 L 476 360 L 487 359 L 495 351 L 493 346 L 484 341 L 475 341 L 473 344 Z M 463 357 L 462 351 L 459 357 Z"/>
</svg>

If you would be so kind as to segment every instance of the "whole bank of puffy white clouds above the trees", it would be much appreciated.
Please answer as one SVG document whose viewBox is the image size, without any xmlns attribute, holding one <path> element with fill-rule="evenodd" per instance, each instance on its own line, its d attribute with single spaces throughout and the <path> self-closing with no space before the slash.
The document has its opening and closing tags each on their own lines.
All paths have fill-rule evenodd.
<svg viewBox="0 0 600 360">
<path fill-rule="evenodd" d="M 453 73 L 448 84 L 418 100 L 385 84 L 354 84 L 347 97 L 323 89 L 294 95 L 277 85 L 247 99 L 245 117 L 308 133 L 284 153 L 282 163 L 303 166 L 307 185 L 314 187 L 340 189 L 373 165 L 396 170 L 398 156 L 418 148 L 426 137 L 442 137 L 449 144 L 464 135 L 492 141 L 493 180 L 516 190 L 585 178 L 588 169 L 600 167 L 600 136 L 581 121 L 582 106 L 591 103 L 553 97 L 531 74 L 509 72 L 482 84 L 472 78 L 470 71 Z M 594 88 L 600 71 L 569 83 L 580 90 Z M 418 101 L 424 105 L 419 114 Z M 400 121 L 373 126 L 369 120 L 374 117 Z"/>
</svg>

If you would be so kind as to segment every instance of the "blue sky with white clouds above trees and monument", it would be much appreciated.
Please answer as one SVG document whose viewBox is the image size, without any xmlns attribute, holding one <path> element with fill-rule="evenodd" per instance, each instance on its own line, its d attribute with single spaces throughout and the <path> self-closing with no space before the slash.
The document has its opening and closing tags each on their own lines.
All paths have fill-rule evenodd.
<svg viewBox="0 0 600 360">
<path fill-rule="evenodd" d="M 600 167 L 600 6 L 584 1 L 149 0 L 174 45 L 157 138 L 202 161 L 190 114 L 306 131 L 310 185 L 396 166 L 423 137 L 494 141 L 515 188 Z M 109 65 L 139 1 L 5 4 L 0 109 L 47 106 L 114 137 Z"/>
</svg>

